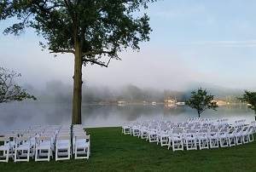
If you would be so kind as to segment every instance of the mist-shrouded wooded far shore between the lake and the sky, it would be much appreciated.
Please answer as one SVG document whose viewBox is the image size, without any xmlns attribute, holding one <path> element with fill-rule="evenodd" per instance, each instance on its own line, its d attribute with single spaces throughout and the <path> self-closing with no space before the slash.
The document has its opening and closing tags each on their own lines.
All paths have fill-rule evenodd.
<svg viewBox="0 0 256 172">
<path fill-rule="evenodd" d="M 44 90 L 38 90 L 31 84 L 23 86 L 26 91 L 35 95 L 40 103 L 72 103 L 73 86 L 60 80 L 51 80 L 45 84 Z M 191 83 L 190 88 L 177 91 L 170 89 L 139 88 L 133 84 L 126 84 L 119 88 L 111 88 L 104 85 L 88 85 L 83 83 L 82 101 L 84 104 L 117 104 L 118 101 L 127 103 L 163 103 L 165 100 L 176 100 L 183 102 L 189 100 L 191 91 L 198 88 L 207 89 L 208 93 L 214 95 L 214 100 L 228 103 L 238 102 L 244 89 L 228 89 L 209 83 Z M 254 91 L 253 89 L 248 89 Z M 30 101 L 30 100 L 27 100 Z"/>
</svg>

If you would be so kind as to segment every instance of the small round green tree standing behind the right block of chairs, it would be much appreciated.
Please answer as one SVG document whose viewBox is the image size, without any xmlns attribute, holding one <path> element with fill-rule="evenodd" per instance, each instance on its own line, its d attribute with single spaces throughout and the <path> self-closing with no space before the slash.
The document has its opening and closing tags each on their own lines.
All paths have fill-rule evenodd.
<svg viewBox="0 0 256 172">
<path fill-rule="evenodd" d="M 218 107 L 217 102 L 213 101 L 214 95 L 208 95 L 207 89 L 198 89 L 191 92 L 190 99 L 185 101 L 185 104 L 195 109 L 198 113 L 198 118 L 200 118 L 201 112 L 207 109 L 216 110 Z"/>
</svg>

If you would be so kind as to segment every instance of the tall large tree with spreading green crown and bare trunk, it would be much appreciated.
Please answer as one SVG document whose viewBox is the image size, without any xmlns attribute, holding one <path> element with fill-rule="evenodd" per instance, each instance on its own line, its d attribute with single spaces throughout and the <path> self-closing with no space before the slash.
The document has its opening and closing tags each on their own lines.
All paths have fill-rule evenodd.
<svg viewBox="0 0 256 172">
<path fill-rule="evenodd" d="M 32 27 L 45 38 L 40 43 L 50 53 L 74 55 L 73 118 L 81 123 L 82 66 L 108 67 L 110 60 L 120 60 L 118 53 L 149 40 L 148 15 L 137 13 L 156 0 L 20 0 L 0 2 L 0 20 L 16 17 L 4 30 L 19 36 Z"/>
</svg>

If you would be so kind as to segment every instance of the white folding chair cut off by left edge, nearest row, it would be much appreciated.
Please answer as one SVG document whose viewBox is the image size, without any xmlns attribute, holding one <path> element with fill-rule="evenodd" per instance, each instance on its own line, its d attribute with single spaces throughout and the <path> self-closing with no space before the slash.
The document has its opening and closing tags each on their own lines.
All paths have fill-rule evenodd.
<svg viewBox="0 0 256 172">
<path fill-rule="evenodd" d="M 0 157 L 3 157 L 3 158 L 0 159 L 0 162 L 8 163 L 10 153 L 11 153 L 12 158 L 14 158 L 13 147 L 11 146 L 9 137 L 0 137 L 0 142 L 2 142 L 2 141 L 3 141 L 3 145 L 0 146 L 0 152 L 3 152 L 3 155 L 1 155 Z"/>
</svg>

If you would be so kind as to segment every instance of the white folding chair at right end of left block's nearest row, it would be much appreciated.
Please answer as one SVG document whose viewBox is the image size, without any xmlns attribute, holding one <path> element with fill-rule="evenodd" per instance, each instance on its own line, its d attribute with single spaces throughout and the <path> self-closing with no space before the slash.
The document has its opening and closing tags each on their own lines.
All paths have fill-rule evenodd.
<svg viewBox="0 0 256 172">
<path fill-rule="evenodd" d="M 74 143 L 75 159 L 86 158 L 90 156 L 90 135 L 77 135 L 75 136 Z"/>
</svg>

